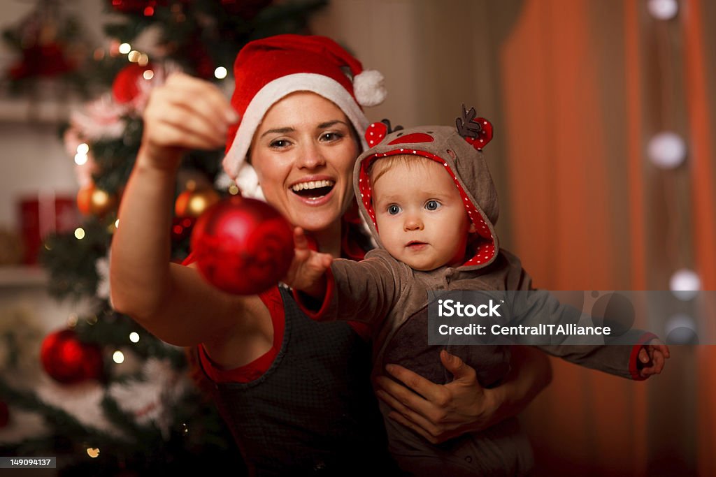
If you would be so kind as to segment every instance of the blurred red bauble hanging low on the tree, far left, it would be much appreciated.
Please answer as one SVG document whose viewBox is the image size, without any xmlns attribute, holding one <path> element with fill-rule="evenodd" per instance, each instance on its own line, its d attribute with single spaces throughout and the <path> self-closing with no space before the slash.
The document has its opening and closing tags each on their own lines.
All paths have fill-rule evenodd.
<svg viewBox="0 0 716 477">
<path fill-rule="evenodd" d="M 42 341 L 40 362 L 45 372 L 62 384 L 81 383 L 102 375 L 102 351 L 82 343 L 73 330 L 50 333 Z"/>
</svg>

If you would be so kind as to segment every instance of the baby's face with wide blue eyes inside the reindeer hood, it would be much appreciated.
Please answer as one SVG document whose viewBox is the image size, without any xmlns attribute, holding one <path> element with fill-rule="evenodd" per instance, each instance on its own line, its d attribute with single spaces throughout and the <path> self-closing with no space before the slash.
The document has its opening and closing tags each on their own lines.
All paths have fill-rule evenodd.
<svg viewBox="0 0 716 477">
<path fill-rule="evenodd" d="M 440 162 L 392 164 L 372 189 L 378 234 L 390 255 L 415 270 L 462 264 L 472 227 L 458 187 Z"/>
</svg>

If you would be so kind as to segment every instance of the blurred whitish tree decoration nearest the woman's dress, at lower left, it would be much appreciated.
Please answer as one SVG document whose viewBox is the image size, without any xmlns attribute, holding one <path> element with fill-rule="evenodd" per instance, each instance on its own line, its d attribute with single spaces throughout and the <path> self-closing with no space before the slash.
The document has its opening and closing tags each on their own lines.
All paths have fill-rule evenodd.
<svg viewBox="0 0 716 477">
<path fill-rule="evenodd" d="M 120 409 L 133 415 L 138 424 L 154 423 L 165 439 L 173 423 L 172 408 L 191 388 L 185 373 L 175 371 L 168 360 L 150 358 L 142 367 L 143 380 L 110 386 L 109 395 Z"/>
</svg>

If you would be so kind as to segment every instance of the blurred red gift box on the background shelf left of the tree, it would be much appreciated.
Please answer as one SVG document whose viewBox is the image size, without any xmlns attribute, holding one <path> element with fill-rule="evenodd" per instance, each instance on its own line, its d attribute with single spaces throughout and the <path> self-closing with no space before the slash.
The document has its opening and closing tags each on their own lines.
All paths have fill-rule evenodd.
<svg viewBox="0 0 716 477">
<path fill-rule="evenodd" d="M 72 196 L 52 192 L 19 200 L 20 228 L 26 265 L 37 263 L 44 237 L 52 232 L 70 232 L 79 226 L 79 210 Z"/>
</svg>

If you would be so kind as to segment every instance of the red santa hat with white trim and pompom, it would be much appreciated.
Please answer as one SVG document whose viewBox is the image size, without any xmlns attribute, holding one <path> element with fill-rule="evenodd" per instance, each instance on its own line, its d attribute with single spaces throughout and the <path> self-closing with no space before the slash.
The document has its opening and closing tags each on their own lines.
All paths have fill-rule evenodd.
<svg viewBox="0 0 716 477">
<path fill-rule="evenodd" d="M 308 91 L 334 102 L 362 138 L 368 126 L 363 106 L 385 98 L 383 76 L 362 64 L 325 36 L 284 34 L 251 41 L 239 51 L 233 66 L 236 89 L 231 104 L 241 122 L 228 132 L 223 168 L 246 197 L 263 199 L 256 172 L 246 152 L 264 114 L 279 99 Z"/>
</svg>

